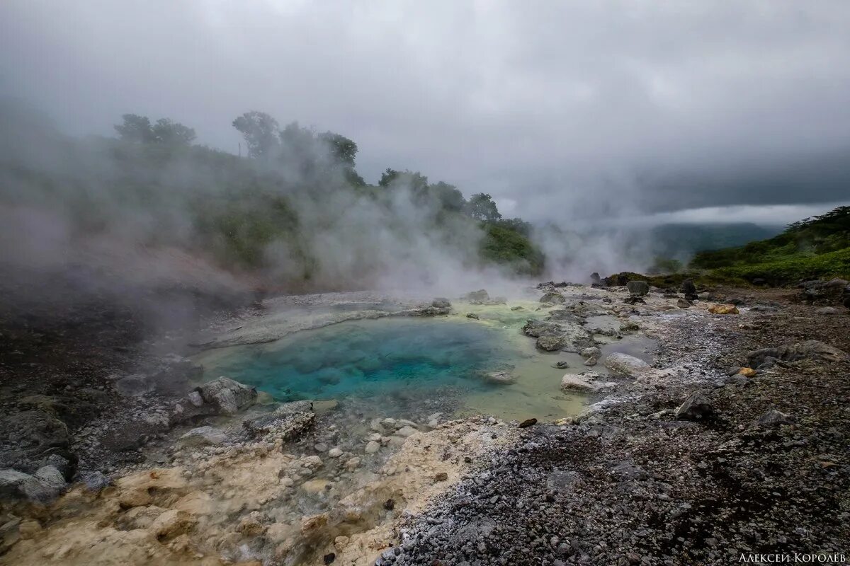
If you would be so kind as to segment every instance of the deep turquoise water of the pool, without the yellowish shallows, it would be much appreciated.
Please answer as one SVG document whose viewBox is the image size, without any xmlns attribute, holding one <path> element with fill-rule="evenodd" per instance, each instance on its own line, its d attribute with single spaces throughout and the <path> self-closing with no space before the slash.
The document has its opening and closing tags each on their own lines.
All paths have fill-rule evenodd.
<svg viewBox="0 0 850 566">
<path fill-rule="evenodd" d="M 278 401 L 484 392 L 500 386 L 482 373 L 509 369 L 521 355 L 503 336 L 477 322 L 366 320 L 240 346 L 201 362 L 207 376 L 227 375 Z"/>
</svg>

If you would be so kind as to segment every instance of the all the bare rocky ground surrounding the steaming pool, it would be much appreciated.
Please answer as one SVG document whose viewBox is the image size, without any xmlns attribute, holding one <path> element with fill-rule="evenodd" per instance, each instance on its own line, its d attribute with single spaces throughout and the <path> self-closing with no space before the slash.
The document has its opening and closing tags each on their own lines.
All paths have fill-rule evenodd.
<svg viewBox="0 0 850 566">
<path fill-rule="evenodd" d="M 103 300 L 52 319 L 20 309 L 2 321 L 0 468 L 26 479 L 0 479 L 42 502 L 0 503 L 0 563 L 690 564 L 847 551 L 840 296 L 574 287 L 544 285 L 557 308 L 524 333 L 618 374 L 564 376 L 563 389 L 600 400 L 587 412 L 519 427 L 423 413 L 364 423 L 354 440 L 318 408 L 256 406 L 233 382 L 188 389 L 195 368 L 175 354 L 199 336 L 265 332 L 251 308 L 205 311 L 190 332 L 152 332 L 150 318 Z M 364 297 L 328 320 L 413 308 Z M 307 301 L 297 326 L 337 299 L 283 301 Z M 615 325 L 592 328 L 600 315 Z M 658 340 L 655 367 L 597 360 L 594 335 L 638 329 Z M 181 438 L 195 420 L 215 426 Z M 68 479 L 84 483 L 45 505 Z"/>
</svg>

